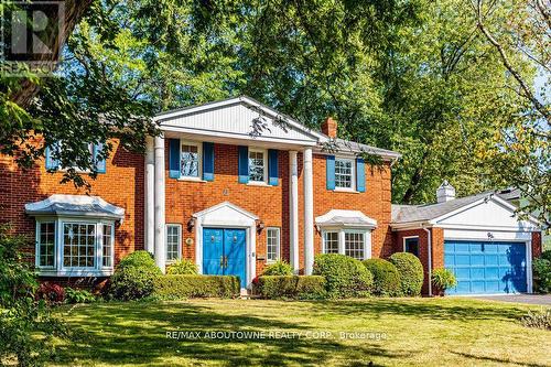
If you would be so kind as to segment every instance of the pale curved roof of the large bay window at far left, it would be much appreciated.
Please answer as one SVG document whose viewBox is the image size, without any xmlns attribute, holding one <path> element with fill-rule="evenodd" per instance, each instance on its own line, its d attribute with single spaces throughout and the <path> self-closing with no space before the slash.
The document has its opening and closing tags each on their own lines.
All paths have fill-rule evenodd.
<svg viewBox="0 0 551 367">
<path fill-rule="evenodd" d="M 31 216 L 77 216 L 121 220 L 125 208 L 107 203 L 99 196 L 54 194 L 40 202 L 25 204 Z"/>
</svg>

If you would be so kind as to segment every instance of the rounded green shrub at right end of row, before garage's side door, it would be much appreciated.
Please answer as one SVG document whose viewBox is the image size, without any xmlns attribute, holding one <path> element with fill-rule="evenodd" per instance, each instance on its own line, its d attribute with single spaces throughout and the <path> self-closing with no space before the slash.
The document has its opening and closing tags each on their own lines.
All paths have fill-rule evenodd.
<svg viewBox="0 0 551 367">
<path fill-rule="evenodd" d="M 423 287 L 423 265 L 417 256 L 396 252 L 389 258 L 400 273 L 401 291 L 404 295 L 420 295 Z"/>
</svg>

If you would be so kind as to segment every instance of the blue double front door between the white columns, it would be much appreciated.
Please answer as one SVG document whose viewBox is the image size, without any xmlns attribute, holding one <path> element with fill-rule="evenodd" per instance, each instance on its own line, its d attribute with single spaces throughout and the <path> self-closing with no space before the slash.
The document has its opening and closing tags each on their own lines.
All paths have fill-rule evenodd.
<svg viewBox="0 0 551 367">
<path fill-rule="evenodd" d="M 210 276 L 237 276 L 241 288 L 247 285 L 245 229 L 203 229 L 203 273 Z"/>
</svg>

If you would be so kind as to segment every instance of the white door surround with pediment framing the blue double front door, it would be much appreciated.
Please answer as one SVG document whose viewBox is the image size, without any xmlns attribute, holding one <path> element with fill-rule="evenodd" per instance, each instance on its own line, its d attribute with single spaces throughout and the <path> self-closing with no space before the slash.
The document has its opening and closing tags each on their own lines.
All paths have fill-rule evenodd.
<svg viewBox="0 0 551 367">
<path fill-rule="evenodd" d="M 217 215 L 217 211 L 230 209 L 231 215 Z M 213 216 L 214 214 L 214 216 Z M 206 228 L 238 228 L 246 229 L 246 287 L 252 287 L 252 279 L 257 274 L 257 219 L 258 217 L 237 205 L 224 202 L 193 214 L 195 220 L 195 263 L 198 273 L 203 273 L 203 229 Z"/>
</svg>

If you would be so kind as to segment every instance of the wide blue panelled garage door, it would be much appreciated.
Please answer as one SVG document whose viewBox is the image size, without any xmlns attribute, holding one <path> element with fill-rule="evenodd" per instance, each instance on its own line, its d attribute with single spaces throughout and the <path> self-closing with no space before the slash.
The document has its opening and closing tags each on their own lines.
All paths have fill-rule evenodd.
<svg viewBox="0 0 551 367">
<path fill-rule="evenodd" d="M 445 241 L 444 267 L 457 278 L 449 294 L 527 291 L 526 245 L 519 242 Z"/>
</svg>

